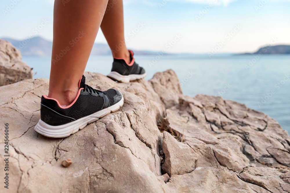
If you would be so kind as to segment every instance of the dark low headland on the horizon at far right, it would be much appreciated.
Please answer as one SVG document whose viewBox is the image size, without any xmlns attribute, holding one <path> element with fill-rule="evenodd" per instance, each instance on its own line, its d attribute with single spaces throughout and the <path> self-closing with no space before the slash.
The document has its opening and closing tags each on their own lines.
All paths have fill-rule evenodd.
<svg viewBox="0 0 290 193">
<path fill-rule="evenodd" d="M 257 52 L 244 54 L 290 54 L 290 45 L 267 46 L 260 48 Z"/>
</svg>

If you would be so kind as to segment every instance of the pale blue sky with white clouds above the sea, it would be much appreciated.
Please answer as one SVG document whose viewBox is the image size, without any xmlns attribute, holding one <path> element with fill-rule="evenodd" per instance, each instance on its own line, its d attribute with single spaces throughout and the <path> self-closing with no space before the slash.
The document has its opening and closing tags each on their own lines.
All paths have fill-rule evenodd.
<svg viewBox="0 0 290 193">
<path fill-rule="evenodd" d="M 52 41 L 53 2 L 1 0 L 0 38 Z M 197 54 L 290 45 L 289 10 L 290 0 L 124 0 L 126 45 Z M 95 42 L 106 43 L 101 30 Z"/>
</svg>

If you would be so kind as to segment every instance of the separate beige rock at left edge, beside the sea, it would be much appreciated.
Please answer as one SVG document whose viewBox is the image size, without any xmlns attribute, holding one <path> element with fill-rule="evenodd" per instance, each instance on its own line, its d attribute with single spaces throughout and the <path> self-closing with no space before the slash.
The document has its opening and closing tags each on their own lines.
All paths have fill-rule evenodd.
<svg viewBox="0 0 290 193">
<path fill-rule="evenodd" d="M 32 69 L 21 59 L 18 49 L 0 39 L 0 86 L 32 78 Z"/>
</svg>

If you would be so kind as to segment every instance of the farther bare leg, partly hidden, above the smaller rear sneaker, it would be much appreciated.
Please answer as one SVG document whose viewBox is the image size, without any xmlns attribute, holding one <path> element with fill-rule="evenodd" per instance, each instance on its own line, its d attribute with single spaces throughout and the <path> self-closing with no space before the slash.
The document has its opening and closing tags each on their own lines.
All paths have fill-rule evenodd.
<svg viewBox="0 0 290 193">
<path fill-rule="evenodd" d="M 130 54 L 124 37 L 123 0 L 108 1 L 101 29 L 112 50 L 113 57 L 124 58 L 127 63 L 130 63 Z"/>
</svg>

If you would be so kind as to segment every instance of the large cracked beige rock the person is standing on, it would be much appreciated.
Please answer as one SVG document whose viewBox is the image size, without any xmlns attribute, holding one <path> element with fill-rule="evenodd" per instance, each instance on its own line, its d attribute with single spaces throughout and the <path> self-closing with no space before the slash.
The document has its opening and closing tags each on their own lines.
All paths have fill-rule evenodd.
<svg viewBox="0 0 290 193">
<path fill-rule="evenodd" d="M 0 87 L 10 192 L 290 192 L 290 137 L 271 117 L 220 97 L 184 96 L 172 70 L 130 83 L 85 76 L 98 90 L 119 89 L 124 106 L 64 139 L 33 129 L 47 79 Z M 3 140 L 0 147 L 3 158 Z"/>
</svg>

